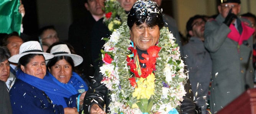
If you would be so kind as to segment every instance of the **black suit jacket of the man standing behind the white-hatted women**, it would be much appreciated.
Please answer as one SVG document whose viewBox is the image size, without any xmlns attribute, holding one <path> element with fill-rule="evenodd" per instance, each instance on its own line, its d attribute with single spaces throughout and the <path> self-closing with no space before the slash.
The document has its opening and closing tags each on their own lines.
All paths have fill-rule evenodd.
<svg viewBox="0 0 256 114">
<path fill-rule="evenodd" d="M 69 26 L 69 43 L 74 47 L 75 52 L 82 56 L 84 61 L 80 64 L 79 70 L 82 72 L 84 80 L 89 76 L 93 76 L 94 68 L 91 67 L 91 32 L 95 24 L 95 19 L 90 13 L 87 13 L 85 18 L 74 21 Z"/>
</svg>

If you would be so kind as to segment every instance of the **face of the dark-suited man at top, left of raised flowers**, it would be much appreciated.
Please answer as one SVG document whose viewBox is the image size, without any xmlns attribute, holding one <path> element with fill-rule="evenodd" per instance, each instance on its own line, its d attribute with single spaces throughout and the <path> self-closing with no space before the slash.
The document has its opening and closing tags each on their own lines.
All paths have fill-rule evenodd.
<svg viewBox="0 0 256 114">
<path fill-rule="evenodd" d="M 104 14 L 104 11 L 102 10 L 102 8 L 104 8 L 104 1 L 105 0 L 88 0 L 88 3 L 85 3 L 84 5 L 92 15 L 102 16 Z"/>
</svg>

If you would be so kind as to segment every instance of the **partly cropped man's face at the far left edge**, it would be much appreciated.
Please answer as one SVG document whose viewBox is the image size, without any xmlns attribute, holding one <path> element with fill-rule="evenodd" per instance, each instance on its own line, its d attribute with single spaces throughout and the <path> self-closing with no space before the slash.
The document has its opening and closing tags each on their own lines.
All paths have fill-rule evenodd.
<svg viewBox="0 0 256 114">
<path fill-rule="evenodd" d="M 0 63 L 0 80 L 6 82 L 10 76 L 10 63 L 8 59 Z"/>
</svg>

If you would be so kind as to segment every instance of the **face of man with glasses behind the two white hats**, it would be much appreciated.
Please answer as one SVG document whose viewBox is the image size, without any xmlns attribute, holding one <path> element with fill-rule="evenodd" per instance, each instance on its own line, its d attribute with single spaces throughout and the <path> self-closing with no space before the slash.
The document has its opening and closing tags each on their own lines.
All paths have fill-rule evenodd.
<svg viewBox="0 0 256 114">
<path fill-rule="evenodd" d="M 53 43 L 59 42 L 58 34 L 53 29 L 47 29 L 41 35 L 42 42 L 51 46 Z"/>
</svg>

